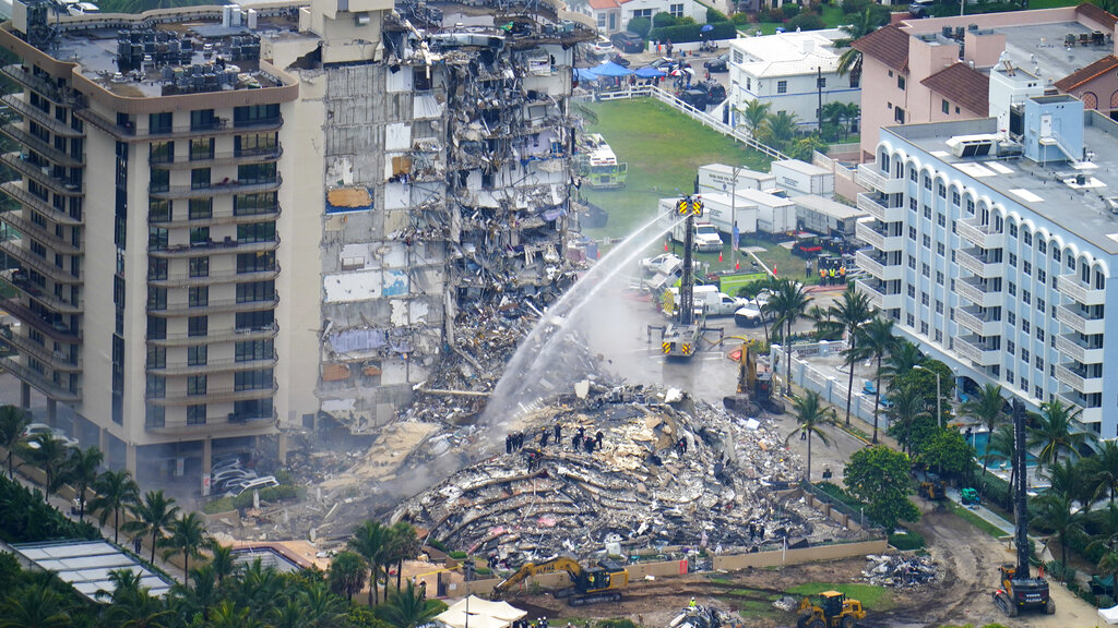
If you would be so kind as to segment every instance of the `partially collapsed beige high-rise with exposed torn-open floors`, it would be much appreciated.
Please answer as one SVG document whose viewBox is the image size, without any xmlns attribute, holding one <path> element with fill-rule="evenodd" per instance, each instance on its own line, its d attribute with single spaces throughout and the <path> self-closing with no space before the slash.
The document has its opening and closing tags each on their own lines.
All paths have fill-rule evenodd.
<svg viewBox="0 0 1118 628">
<path fill-rule="evenodd" d="M 594 36 L 551 0 L 17 0 L 0 220 L 22 237 L 0 280 L 21 403 L 203 492 L 221 449 L 382 426 L 461 326 L 561 289 Z"/>
</svg>

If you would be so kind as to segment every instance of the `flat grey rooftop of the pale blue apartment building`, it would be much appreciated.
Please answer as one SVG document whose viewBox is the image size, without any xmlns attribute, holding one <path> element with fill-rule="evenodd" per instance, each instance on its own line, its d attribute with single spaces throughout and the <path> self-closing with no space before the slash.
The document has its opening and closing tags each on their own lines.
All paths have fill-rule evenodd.
<svg viewBox="0 0 1118 628">
<path fill-rule="evenodd" d="M 882 131 L 1059 223 L 1101 251 L 1118 255 L 1118 216 L 1111 213 L 1106 201 L 1118 197 L 1118 123 L 1093 111 L 1086 112 L 1083 120 L 1083 146 L 1093 158 L 1080 163 L 957 158 L 950 152 L 947 141 L 954 136 L 996 134 L 997 118 L 993 117 L 889 126 Z M 1086 175 L 1087 183 L 1077 184 L 1077 174 Z"/>
</svg>

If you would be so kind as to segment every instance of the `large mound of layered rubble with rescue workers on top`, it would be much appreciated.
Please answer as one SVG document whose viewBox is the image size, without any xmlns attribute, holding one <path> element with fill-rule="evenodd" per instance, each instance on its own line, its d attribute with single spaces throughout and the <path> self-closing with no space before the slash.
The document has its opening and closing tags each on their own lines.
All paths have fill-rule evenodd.
<svg viewBox="0 0 1118 628">
<path fill-rule="evenodd" d="M 855 536 L 802 501 L 778 497 L 799 465 L 771 424 L 675 390 L 585 386 L 511 427 L 524 435 L 522 447 L 493 444 L 501 454 L 402 503 L 391 520 L 509 565 L 606 548 L 747 552 L 785 539 Z M 579 432 L 599 431 L 600 448 L 572 448 Z"/>
</svg>

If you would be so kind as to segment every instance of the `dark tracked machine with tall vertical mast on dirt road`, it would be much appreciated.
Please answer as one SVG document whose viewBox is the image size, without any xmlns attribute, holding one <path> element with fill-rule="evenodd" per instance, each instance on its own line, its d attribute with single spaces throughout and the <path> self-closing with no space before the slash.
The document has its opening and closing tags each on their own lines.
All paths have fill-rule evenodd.
<svg viewBox="0 0 1118 628">
<path fill-rule="evenodd" d="M 1017 446 L 1013 456 L 1014 510 L 1017 546 L 1017 564 L 998 568 L 999 588 L 994 591 L 994 605 L 1005 615 L 1016 617 L 1022 610 L 1041 610 L 1055 615 L 1055 602 L 1049 594 L 1049 583 L 1044 578 L 1029 577 L 1029 505 L 1025 497 L 1025 405 L 1013 400 L 1013 438 Z"/>
</svg>

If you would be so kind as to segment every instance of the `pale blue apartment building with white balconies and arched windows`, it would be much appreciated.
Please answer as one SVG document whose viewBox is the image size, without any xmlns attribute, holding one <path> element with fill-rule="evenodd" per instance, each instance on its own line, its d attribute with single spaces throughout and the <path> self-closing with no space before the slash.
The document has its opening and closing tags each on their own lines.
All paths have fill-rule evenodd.
<svg viewBox="0 0 1118 628">
<path fill-rule="evenodd" d="M 1118 124 L 1067 95 L 1002 108 L 1012 120 L 881 131 L 859 169 L 873 191 L 858 198 L 858 263 L 873 278 L 858 288 L 960 383 L 1034 410 L 1060 397 L 1115 438 Z"/>
</svg>

